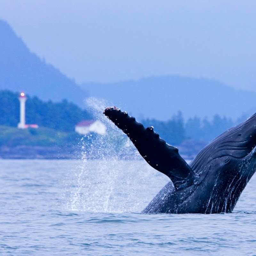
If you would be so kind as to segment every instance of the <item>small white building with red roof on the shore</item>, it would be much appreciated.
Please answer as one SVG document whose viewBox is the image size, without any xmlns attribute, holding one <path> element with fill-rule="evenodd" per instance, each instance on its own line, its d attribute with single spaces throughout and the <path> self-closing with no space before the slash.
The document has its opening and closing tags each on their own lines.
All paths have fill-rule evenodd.
<svg viewBox="0 0 256 256">
<path fill-rule="evenodd" d="M 86 135 L 89 132 L 97 132 L 98 134 L 106 133 L 106 126 L 99 120 L 85 120 L 76 124 L 75 131 L 79 134 Z"/>
</svg>

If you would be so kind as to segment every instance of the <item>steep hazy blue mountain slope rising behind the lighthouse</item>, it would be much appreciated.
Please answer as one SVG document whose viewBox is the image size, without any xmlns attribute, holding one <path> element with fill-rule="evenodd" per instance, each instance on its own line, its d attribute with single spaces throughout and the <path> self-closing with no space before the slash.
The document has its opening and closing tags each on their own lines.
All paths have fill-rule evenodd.
<svg viewBox="0 0 256 256">
<path fill-rule="evenodd" d="M 47 44 L 47 41 L 42 42 Z M 86 93 L 57 68 L 29 51 L 22 39 L 0 20 L 0 90 L 25 91 L 42 100 L 68 99 L 80 106 Z"/>
</svg>

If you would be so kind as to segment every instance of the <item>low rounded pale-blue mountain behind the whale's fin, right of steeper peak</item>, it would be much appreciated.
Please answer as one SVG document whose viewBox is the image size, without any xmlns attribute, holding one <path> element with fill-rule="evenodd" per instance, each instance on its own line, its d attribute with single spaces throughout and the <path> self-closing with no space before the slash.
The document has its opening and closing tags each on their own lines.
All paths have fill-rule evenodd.
<svg viewBox="0 0 256 256">
<path fill-rule="evenodd" d="M 256 92 L 238 91 L 213 79 L 156 76 L 113 84 L 85 83 L 90 96 L 108 101 L 137 118 L 168 120 L 179 110 L 185 119 L 215 114 L 236 120 L 256 112 Z"/>
</svg>

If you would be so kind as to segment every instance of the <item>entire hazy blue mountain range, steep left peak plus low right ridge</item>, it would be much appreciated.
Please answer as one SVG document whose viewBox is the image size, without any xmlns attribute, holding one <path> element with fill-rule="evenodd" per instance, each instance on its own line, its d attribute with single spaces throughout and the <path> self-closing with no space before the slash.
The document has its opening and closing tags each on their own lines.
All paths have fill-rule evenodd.
<svg viewBox="0 0 256 256">
<path fill-rule="evenodd" d="M 78 86 L 31 53 L 12 28 L 0 20 L 0 90 L 3 89 L 25 91 L 42 100 L 68 99 L 82 107 L 87 96 L 94 96 L 105 99 L 106 107 L 116 105 L 138 120 L 168 120 L 179 110 L 185 119 L 219 114 L 236 120 L 243 113 L 249 116 L 256 110 L 256 92 L 238 91 L 213 79 L 156 76 Z"/>
</svg>

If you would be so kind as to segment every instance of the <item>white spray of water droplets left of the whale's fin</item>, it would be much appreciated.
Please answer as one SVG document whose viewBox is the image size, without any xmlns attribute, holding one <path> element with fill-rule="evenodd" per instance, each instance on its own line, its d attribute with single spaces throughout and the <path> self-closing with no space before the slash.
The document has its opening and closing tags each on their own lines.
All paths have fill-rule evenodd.
<svg viewBox="0 0 256 256">
<path fill-rule="evenodd" d="M 85 212 L 140 212 L 168 178 L 140 160 L 142 157 L 132 142 L 103 115 L 108 107 L 105 102 L 89 99 L 87 104 L 94 118 L 106 126 L 107 133 L 87 135 L 81 140 L 81 161 L 68 174 L 66 208 Z M 153 180 L 157 182 L 154 189 Z M 138 196 L 145 192 L 146 197 Z"/>
</svg>

